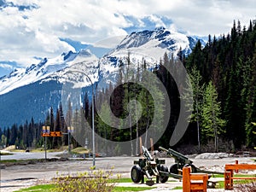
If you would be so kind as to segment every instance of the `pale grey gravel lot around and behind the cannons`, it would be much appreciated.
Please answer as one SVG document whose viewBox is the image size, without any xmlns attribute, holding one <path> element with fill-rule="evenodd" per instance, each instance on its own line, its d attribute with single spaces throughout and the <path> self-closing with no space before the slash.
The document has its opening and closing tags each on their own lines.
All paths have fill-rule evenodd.
<svg viewBox="0 0 256 192">
<path fill-rule="evenodd" d="M 138 157 L 105 157 L 96 158 L 96 169 L 109 170 L 113 167 L 114 174 L 120 174 L 121 177 L 130 177 L 131 166 L 133 161 Z M 172 158 L 163 158 L 166 160 L 166 166 L 171 166 L 174 163 Z M 214 172 L 224 172 L 225 164 L 234 164 L 235 160 L 239 160 L 239 163 L 254 163 L 252 157 L 228 157 L 223 159 L 191 159 L 194 161 L 195 166 Z M 255 158 L 254 158 L 255 159 Z M 34 164 L 24 164 L 17 166 L 5 166 L 1 169 L 1 192 L 15 191 L 17 189 L 26 188 L 38 183 L 50 183 L 53 177 L 56 177 L 56 173 L 59 175 L 67 173 L 77 173 L 90 171 L 92 166 L 92 160 L 67 160 L 67 161 L 50 161 L 40 162 Z M 256 174 L 256 172 L 248 172 Z M 215 178 L 211 178 L 215 179 Z M 159 183 L 157 189 L 148 191 L 161 191 L 166 192 L 173 189 L 176 186 L 182 186 L 182 182 L 169 178 L 167 183 Z M 144 186 L 144 184 L 135 183 L 119 183 L 119 185 L 129 186 Z M 172 190 L 175 191 L 175 190 Z M 182 190 L 177 190 L 182 191 Z M 220 191 L 220 190 L 208 190 L 208 191 Z"/>
</svg>

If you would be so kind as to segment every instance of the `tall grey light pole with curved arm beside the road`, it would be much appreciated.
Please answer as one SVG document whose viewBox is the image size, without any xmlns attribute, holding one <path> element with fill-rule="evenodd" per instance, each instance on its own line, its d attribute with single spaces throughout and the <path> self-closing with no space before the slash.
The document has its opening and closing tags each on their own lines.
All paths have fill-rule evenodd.
<svg viewBox="0 0 256 192">
<path fill-rule="evenodd" d="M 95 167 L 95 132 L 94 132 L 94 89 L 93 89 L 93 83 L 90 79 L 90 77 L 84 73 L 84 72 L 80 72 L 80 71 L 76 71 L 76 70 L 70 70 L 67 73 L 82 73 L 86 76 L 86 78 L 88 78 L 90 80 L 90 84 L 91 84 L 91 95 L 92 95 L 92 99 L 91 99 L 91 121 L 92 121 L 92 166 Z"/>
</svg>

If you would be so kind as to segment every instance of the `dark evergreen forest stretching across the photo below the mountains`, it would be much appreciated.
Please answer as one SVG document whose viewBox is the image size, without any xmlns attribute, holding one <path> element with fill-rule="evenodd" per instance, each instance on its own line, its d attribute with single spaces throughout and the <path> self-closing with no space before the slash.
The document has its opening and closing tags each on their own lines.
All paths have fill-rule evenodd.
<svg viewBox="0 0 256 192">
<path fill-rule="evenodd" d="M 182 140 L 173 148 L 195 146 L 195 152 L 227 150 L 235 152 L 237 149 L 253 148 L 256 145 L 256 135 L 253 134 L 255 126 L 252 123 L 256 122 L 255 41 L 255 22 L 250 21 L 248 27 L 241 28 L 240 21 L 237 23 L 234 21 L 230 34 L 218 38 L 209 35 L 205 47 L 202 47 L 199 40 L 189 56 L 183 55 L 182 51 L 179 52 L 179 60 L 183 62 L 189 73 L 187 84 L 193 87 L 193 94 L 190 94 L 194 103 L 193 106 L 188 106 L 192 113 L 189 128 Z M 137 69 L 131 65 L 137 65 Z M 155 144 L 155 146 L 169 147 L 180 113 L 180 101 L 189 98 L 189 92 L 187 95 L 180 95 L 178 88 L 181 84 L 177 84 L 172 74 L 166 70 L 172 68 L 173 71 L 180 73 L 177 74 L 179 77 L 183 77 L 179 65 L 180 62 L 175 60 L 173 55 L 168 57 L 166 54 L 159 63 L 155 64 L 155 67 L 148 65 L 145 60 L 137 64 L 131 63 L 129 54 L 126 58 L 120 59 L 116 81 L 109 83 L 92 98 L 98 106 L 98 110 L 95 110 L 96 133 L 115 142 L 136 139 L 135 143 L 131 143 L 131 151 L 127 153 L 137 154 L 137 138 L 147 133 L 154 118 L 157 119 L 157 123 L 154 125 L 154 131 L 144 136 L 145 145 L 150 137 L 161 131 L 164 119 L 170 118 L 164 133 Z M 166 87 L 172 107 L 170 117 L 165 116 L 166 96 L 160 91 L 159 83 L 149 78 L 150 73 L 156 75 Z M 151 85 L 150 89 L 156 93 L 155 96 L 143 88 L 148 86 L 143 82 Z M 110 108 L 108 108 L 108 98 Z M 64 114 L 60 103 L 56 113 L 53 108 L 49 109 L 44 123 L 34 123 L 32 119 L 25 125 L 0 129 L 1 144 L 7 146 L 16 144 L 20 148 L 42 146 L 44 138 L 40 137 L 40 132 L 43 125 L 49 125 L 51 131 L 63 132 L 67 132 L 68 127 L 74 125 L 78 127 L 77 135 L 83 139 L 88 137 L 90 144 L 90 133 L 83 130 L 86 125 L 84 121 L 91 126 L 92 99 L 90 100 L 88 93 L 84 91 L 81 108 L 73 108 L 72 102 L 69 101 L 67 113 Z M 133 101 L 140 102 L 141 106 L 137 106 L 138 103 Z M 155 104 L 157 108 L 154 107 Z M 154 110 L 157 112 L 154 113 Z M 137 119 L 139 112 L 141 116 Z M 109 122 L 103 121 L 102 117 Z M 115 129 L 116 127 L 129 128 Z M 67 135 L 48 139 L 48 148 L 67 145 Z M 86 144 L 74 138 L 71 142 L 74 147 Z M 105 148 L 105 151 L 113 149 L 109 149 L 104 143 L 98 143 L 96 147 Z M 114 146 L 114 151 L 116 154 L 121 151 L 119 145 Z"/>
</svg>

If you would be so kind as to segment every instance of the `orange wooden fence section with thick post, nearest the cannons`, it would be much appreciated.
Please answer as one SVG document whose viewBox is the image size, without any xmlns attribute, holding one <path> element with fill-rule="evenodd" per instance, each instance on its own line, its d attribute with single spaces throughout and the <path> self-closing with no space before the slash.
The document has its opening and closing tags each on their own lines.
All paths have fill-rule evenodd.
<svg viewBox="0 0 256 192">
<path fill-rule="evenodd" d="M 207 192 L 208 175 L 206 173 L 190 173 L 191 167 L 183 167 L 183 192 Z"/>
</svg>

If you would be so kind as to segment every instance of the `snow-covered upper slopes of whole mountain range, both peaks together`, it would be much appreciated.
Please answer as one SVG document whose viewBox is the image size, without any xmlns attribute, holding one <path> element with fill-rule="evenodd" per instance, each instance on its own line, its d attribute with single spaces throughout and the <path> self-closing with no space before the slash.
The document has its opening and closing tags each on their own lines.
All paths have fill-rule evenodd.
<svg viewBox="0 0 256 192">
<path fill-rule="evenodd" d="M 93 79 L 93 82 L 96 82 L 99 80 L 99 73 L 104 76 L 117 71 L 119 61 L 125 60 L 128 54 L 132 63 L 139 63 L 144 59 L 149 64 L 155 65 L 165 53 L 175 57 L 182 49 L 185 55 L 189 55 L 197 40 L 197 38 L 188 37 L 183 33 L 170 32 L 164 27 L 156 28 L 153 31 L 131 32 L 115 49 L 100 60 L 96 55 L 91 54 L 89 49 L 81 49 L 79 52 L 69 51 L 52 59 L 44 58 L 37 65 L 32 64 L 26 69 L 17 69 L 9 76 L 0 79 L 0 95 L 40 80 L 45 82 L 57 79 L 63 83 L 66 80 L 62 76 L 67 69 L 84 71 L 86 74 L 90 74 L 90 79 Z M 73 66 L 75 63 L 80 63 L 80 68 Z"/>
</svg>

